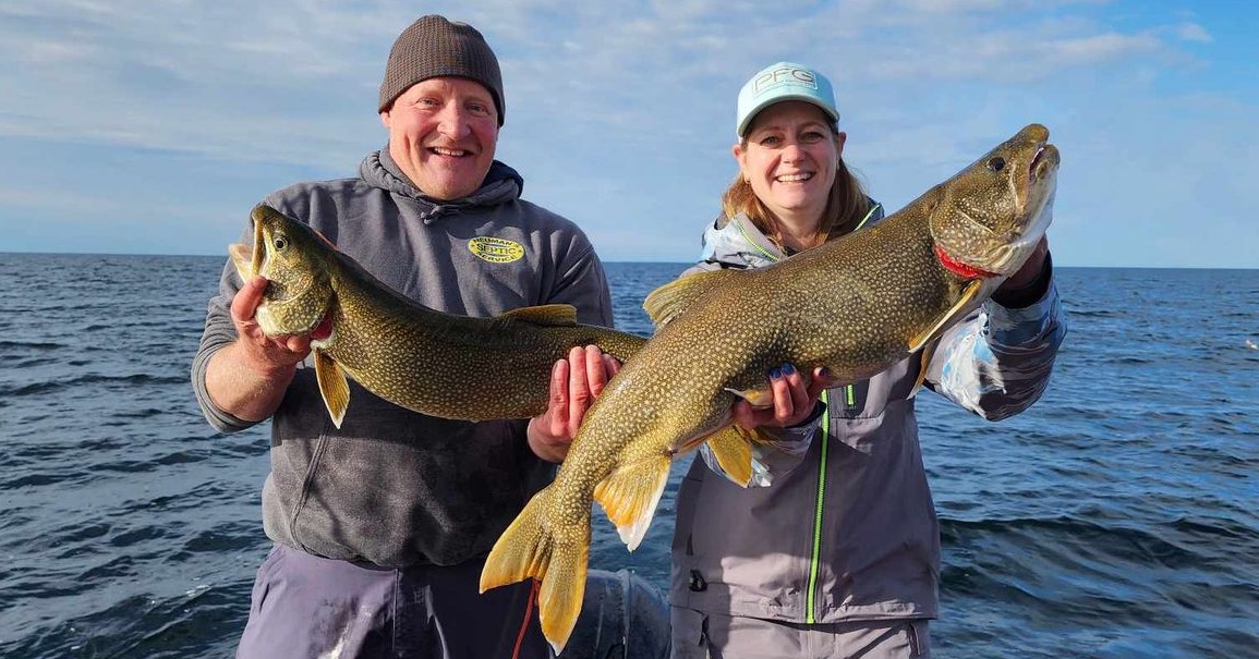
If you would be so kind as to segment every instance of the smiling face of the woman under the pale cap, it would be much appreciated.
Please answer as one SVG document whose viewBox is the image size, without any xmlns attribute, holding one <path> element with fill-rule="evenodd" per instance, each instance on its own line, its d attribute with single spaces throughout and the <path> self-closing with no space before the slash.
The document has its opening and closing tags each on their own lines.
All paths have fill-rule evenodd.
<svg viewBox="0 0 1259 659">
<path fill-rule="evenodd" d="M 757 114 L 747 138 L 734 146 L 734 157 L 776 219 L 816 224 L 826 210 L 846 137 L 832 131 L 817 106 L 783 101 Z"/>
</svg>

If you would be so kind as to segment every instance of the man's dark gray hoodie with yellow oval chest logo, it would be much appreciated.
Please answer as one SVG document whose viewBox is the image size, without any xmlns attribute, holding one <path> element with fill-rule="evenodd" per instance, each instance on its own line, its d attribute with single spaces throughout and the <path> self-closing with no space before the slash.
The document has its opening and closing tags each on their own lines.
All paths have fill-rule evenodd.
<svg viewBox="0 0 1259 659">
<path fill-rule="evenodd" d="M 567 303 L 580 322 L 612 324 L 607 279 L 573 223 L 520 199 L 522 179 L 495 162 L 467 199 L 424 197 L 387 151 L 359 176 L 297 184 L 266 204 L 308 223 L 408 298 L 448 313 L 488 317 Z M 243 240 L 252 240 L 246 230 Z M 478 238 L 519 245 L 519 259 L 483 259 Z M 501 243 L 499 243 L 501 244 Z M 193 361 L 196 399 L 225 433 L 253 424 L 218 409 L 205 389 L 215 351 L 235 341 L 229 307 L 242 282 L 230 263 L 210 301 Z M 307 360 L 272 415 L 263 526 L 276 542 L 327 558 L 404 567 L 483 556 L 554 465 L 529 449 L 525 420 L 467 423 L 419 415 L 351 381 L 340 429 Z M 495 374 L 463 374 L 494 380 Z"/>
</svg>

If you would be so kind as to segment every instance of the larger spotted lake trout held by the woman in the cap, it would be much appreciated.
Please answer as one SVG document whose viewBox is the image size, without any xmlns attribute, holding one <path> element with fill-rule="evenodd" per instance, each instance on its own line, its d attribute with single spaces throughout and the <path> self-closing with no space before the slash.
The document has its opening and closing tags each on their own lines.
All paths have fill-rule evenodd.
<svg viewBox="0 0 1259 659">
<path fill-rule="evenodd" d="M 825 366 L 842 384 L 925 353 L 1036 249 L 1059 165 L 1047 138 L 1027 126 L 870 229 L 655 291 L 645 307 L 656 335 L 594 401 L 555 480 L 499 538 L 481 590 L 540 580 L 543 633 L 562 649 L 582 605 L 592 501 L 633 550 L 671 460 L 724 443 L 735 396 L 763 397 L 769 368 Z"/>
</svg>

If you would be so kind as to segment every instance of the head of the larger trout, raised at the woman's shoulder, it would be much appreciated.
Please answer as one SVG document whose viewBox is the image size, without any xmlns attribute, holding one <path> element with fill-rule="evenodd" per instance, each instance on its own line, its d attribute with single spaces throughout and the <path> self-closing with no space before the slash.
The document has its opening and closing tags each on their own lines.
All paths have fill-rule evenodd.
<svg viewBox="0 0 1259 659">
<path fill-rule="evenodd" d="M 1058 165 L 1049 128 L 1032 123 L 940 184 L 930 215 L 940 258 L 976 277 L 1017 272 L 1053 221 Z"/>
</svg>

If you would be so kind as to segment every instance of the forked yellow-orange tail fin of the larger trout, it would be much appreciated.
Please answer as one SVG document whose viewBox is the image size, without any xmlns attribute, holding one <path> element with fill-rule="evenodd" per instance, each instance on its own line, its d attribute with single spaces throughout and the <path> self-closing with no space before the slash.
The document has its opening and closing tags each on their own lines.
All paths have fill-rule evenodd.
<svg viewBox="0 0 1259 659">
<path fill-rule="evenodd" d="M 590 561 L 590 527 L 589 517 L 585 516 L 583 537 L 556 537 L 549 531 L 551 524 L 546 519 L 550 508 L 548 487 L 535 494 L 502 536 L 499 536 L 481 570 L 481 592 L 530 577 L 540 581 L 538 616 L 543 635 L 555 654 L 559 654 L 582 612 L 585 572 Z M 580 536 L 578 527 L 568 528 Z"/>
</svg>

